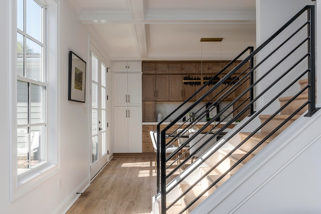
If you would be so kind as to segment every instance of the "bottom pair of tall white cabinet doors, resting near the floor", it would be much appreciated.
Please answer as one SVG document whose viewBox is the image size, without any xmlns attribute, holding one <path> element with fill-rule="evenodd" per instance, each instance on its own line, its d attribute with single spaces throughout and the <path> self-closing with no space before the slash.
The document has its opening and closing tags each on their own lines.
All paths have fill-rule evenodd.
<svg viewBox="0 0 321 214">
<path fill-rule="evenodd" d="M 142 152 L 141 106 L 114 107 L 114 152 Z"/>
</svg>

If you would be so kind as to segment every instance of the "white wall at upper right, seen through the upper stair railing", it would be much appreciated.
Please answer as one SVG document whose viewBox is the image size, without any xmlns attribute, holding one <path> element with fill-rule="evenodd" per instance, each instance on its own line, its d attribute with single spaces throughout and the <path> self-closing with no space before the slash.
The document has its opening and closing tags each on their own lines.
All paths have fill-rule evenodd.
<svg viewBox="0 0 321 214">
<path fill-rule="evenodd" d="M 261 45 L 264 41 L 266 41 L 274 32 L 276 32 L 280 27 L 282 27 L 290 18 L 292 18 L 299 10 L 301 10 L 306 5 L 315 5 L 315 2 L 311 2 L 310 0 L 303 1 L 293 1 L 293 0 L 257 0 L 256 1 L 256 23 L 257 23 L 257 47 Z M 290 26 L 285 32 L 281 33 L 279 37 L 277 37 L 270 45 L 268 45 L 257 57 L 257 63 L 262 61 L 262 59 L 269 53 L 269 51 L 273 50 L 277 45 L 281 44 L 285 38 L 287 38 L 290 34 L 292 34 L 298 26 L 302 25 L 306 22 L 306 14 L 304 14 L 298 21 L 295 22 L 296 26 Z M 295 30 L 294 30 L 295 29 Z M 277 51 L 273 56 L 271 61 L 275 62 L 282 59 L 294 46 L 301 42 L 306 37 L 306 28 L 302 29 L 299 33 L 301 37 L 295 36 L 292 40 L 290 40 L 287 44 L 285 44 L 284 48 L 281 48 Z M 263 91 L 265 88 L 270 87 L 272 80 L 276 79 L 279 74 L 284 73 L 290 65 L 293 65 L 292 62 L 297 61 L 301 56 L 303 56 L 303 52 L 306 53 L 306 46 L 303 45 L 298 51 L 294 53 L 293 56 L 290 57 L 289 62 L 284 62 L 280 66 L 275 69 L 275 72 L 269 75 L 270 81 L 263 81 L 258 87 L 257 92 Z M 260 69 L 257 71 L 257 77 L 261 77 L 266 73 L 268 69 L 271 68 L 270 61 L 263 63 Z M 299 64 L 294 70 L 293 75 L 289 75 L 291 78 L 286 78 L 286 81 L 289 79 L 293 80 L 294 76 L 297 76 L 299 73 L 306 69 L 306 62 Z M 307 76 L 303 77 L 303 79 L 307 78 Z M 271 88 L 271 93 L 268 96 L 275 94 L 276 92 L 281 91 L 284 82 L 280 82 L 278 85 Z M 283 96 L 293 95 L 294 92 L 297 93 L 299 90 L 299 85 L 296 84 L 290 91 L 285 93 Z M 259 107 L 266 104 L 270 97 L 263 97 L 261 103 L 259 103 Z M 278 103 L 276 104 L 278 105 Z"/>
</svg>

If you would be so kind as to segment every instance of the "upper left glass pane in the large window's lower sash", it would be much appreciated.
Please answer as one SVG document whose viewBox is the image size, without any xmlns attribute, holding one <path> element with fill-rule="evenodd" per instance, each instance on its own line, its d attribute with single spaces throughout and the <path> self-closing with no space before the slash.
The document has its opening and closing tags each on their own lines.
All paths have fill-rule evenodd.
<svg viewBox="0 0 321 214">
<path fill-rule="evenodd" d="M 17 124 L 28 124 L 28 84 L 17 82 Z"/>
</svg>

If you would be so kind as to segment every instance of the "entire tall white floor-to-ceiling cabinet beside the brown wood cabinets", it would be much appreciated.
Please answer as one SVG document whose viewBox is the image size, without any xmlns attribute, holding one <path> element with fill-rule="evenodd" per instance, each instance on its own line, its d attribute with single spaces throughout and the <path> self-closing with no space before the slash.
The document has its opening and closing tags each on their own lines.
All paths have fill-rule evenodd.
<svg viewBox="0 0 321 214">
<path fill-rule="evenodd" d="M 142 152 L 141 62 L 114 62 L 114 152 Z"/>
</svg>

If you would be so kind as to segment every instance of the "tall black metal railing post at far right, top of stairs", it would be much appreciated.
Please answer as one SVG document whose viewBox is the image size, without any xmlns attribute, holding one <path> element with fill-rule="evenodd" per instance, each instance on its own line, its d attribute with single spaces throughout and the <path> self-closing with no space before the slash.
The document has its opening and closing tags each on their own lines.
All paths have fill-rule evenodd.
<svg viewBox="0 0 321 214">
<path fill-rule="evenodd" d="M 307 25 L 307 36 L 309 37 L 309 43 L 307 46 L 308 55 L 308 112 L 304 116 L 312 116 L 319 108 L 315 108 L 315 22 L 314 22 L 314 6 L 307 9 L 307 20 L 309 24 Z"/>
</svg>

